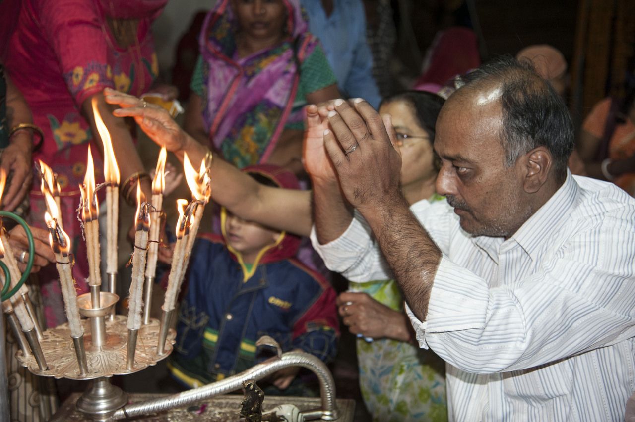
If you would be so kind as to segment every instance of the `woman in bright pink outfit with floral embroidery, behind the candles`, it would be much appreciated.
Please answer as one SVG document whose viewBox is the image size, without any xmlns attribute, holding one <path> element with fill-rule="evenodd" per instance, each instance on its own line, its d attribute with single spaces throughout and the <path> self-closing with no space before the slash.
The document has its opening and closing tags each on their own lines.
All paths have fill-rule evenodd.
<svg viewBox="0 0 635 422">
<path fill-rule="evenodd" d="M 158 73 L 150 23 L 166 1 L 23 0 L 22 10 L 15 16 L 18 24 L 9 42 L 6 70 L 27 100 L 34 124 L 44 132 L 43 146 L 33 158 L 50 165 L 58 175 L 64 229 L 73 241 L 74 276 L 80 293 L 87 291 L 88 264 L 75 209 L 89 144 L 97 181 L 103 181 L 102 159 L 97 153 L 102 143 L 91 101 L 97 100 L 112 137 L 121 172 L 120 191 L 126 191 L 126 182 L 136 184 L 141 179 L 142 188 L 150 193 L 130 129 L 122 118 L 112 116 L 102 91 L 113 87 L 137 96 L 150 91 Z M 30 223 L 43 227 L 45 207 L 37 176 L 30 203 Z M 65 317 L 55 268 L 45 269 L 40 279 L 46 323 L 56 326 Z"/>
</svg>

